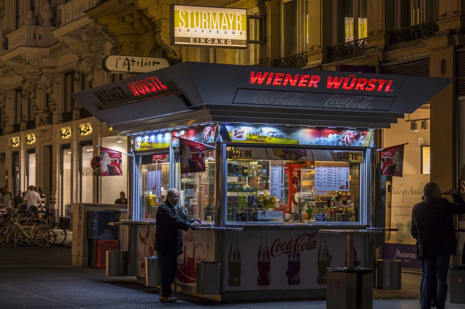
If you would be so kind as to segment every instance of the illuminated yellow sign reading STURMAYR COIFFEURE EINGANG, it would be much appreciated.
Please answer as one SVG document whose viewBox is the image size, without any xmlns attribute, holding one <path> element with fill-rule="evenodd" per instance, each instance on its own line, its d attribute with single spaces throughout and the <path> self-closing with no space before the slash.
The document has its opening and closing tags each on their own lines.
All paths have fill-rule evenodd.
<svg viewBox="0 0 465 309">
<path fill-rule="evenodd" d="M 171 5 L 171 45 L 247 48 L 245 8 Z"/>
</svg>

